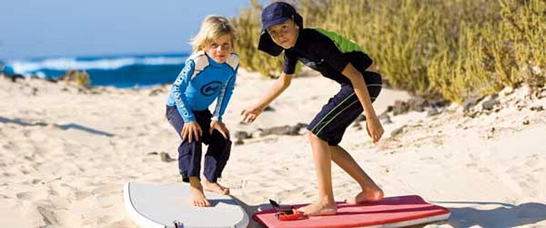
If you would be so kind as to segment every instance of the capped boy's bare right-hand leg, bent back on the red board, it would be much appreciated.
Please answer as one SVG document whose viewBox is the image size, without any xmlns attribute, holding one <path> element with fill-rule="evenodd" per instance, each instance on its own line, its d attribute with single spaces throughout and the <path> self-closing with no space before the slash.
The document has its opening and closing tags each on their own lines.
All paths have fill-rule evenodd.
<svg viewBox="0 0 546 228">
<path fill-rule="evenodd" d="M 383 198 L 383 191 L 379 188 L 375 182 L 370 178 L 364 170 L 358 165 L 358 163 L 351 157 L 351 155 L 339 145 L 330 146 L 330 152 L 332 153 L 332 160 L 339 165 L 347 174 L 355 179 L 362 192 L 360 192 L 355 199 L 351 199 L 351 203 L 362 203 L 367 201 L 377 201 Z"/>
</svg>

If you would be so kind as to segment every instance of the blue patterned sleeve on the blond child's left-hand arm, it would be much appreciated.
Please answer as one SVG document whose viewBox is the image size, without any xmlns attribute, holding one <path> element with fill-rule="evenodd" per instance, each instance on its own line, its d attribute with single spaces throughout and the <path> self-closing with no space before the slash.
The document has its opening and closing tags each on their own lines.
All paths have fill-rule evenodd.
<svg viewBox="0 0 546 228">
<path fill-rule="evenodd" d="M 177 103 L 177 110 L 184 119 L 184 123 L 195 121 L 194 113 L 191 112 L 188 98 L 184 93 L 191 81 L 191 75 L 194 73 L 195 63 L 191 59 L 186 61 L 186 65 L 179 73 L 177 80 L 172 84 L 172 92 Z"/>
</svg>

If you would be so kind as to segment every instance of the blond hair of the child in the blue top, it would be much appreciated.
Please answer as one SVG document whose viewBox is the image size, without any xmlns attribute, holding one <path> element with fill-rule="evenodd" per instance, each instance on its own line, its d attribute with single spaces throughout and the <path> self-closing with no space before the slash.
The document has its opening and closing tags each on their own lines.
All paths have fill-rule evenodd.
<svg viewBox="0 0 546 228">
<path fill-rule="evenodd" d="M 210 15 L 201 23 L 201 29 L 194 38 L 191 38 L 190 44 L 194 46 L 194 52 L 204 50 L 207 45 L 214 42 L 216 38 L 228 34 L 231 36 L 231 46 L 235 43 L 236 31 L 224 16 Z"/>
</svg>

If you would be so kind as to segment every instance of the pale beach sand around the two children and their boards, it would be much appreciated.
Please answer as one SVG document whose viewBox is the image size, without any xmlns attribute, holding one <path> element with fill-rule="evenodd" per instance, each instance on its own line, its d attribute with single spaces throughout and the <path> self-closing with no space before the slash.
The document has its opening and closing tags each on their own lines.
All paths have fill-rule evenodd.
<svg viewBox="0 0 546 228">
<path fill-rule="evenodd" d="M 258 128 L 309 123 L 333 95 L 335 82 L 295 78 L 253 125 L 239 114 L 274 81 L 238 76 L 224 122 L 253 138 L 232 147 L 221 184 L 249 214 L 280 203 L 317 197 L 312 152 L 305 136 L 259 136 Z M 125 212 L 126 182 L 180 182 L 179 138 L 164 118 L 170 86 L 91 90 L 38 79 L 0 78 L 0 227 L 136 227 Z M 391 115 L 374 144 L 364 123 L 341 143 L 386 196 L 421 195 L 451 209 L 447 222 L 426 227 L 546 227 L 546 98 L 525 98 L 527 88 L 503 90 L 492 111 L 481 103 L 463 115 L 461 105 Z M 546 91 L 542 92 L 546 95 Z M 402 91 L 384 89 L 379 115 Z M 483 102 L 483 101 L 482 101 Z M 234 139 L 233 139 L 234 140 Z M 332 165 L 336 199 L 359 192 Z M 252 222 L 249 227 L 259 227 Z"/>
</svg>

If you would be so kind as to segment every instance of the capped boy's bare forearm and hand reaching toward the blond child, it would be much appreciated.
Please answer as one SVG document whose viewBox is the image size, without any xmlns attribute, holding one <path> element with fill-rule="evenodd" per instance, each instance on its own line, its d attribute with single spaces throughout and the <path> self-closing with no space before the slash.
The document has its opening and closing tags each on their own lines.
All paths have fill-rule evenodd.
<svg viewBox="0 0 546 228">
<path fill-rule="evenodd" d="M 266 107 L 275 100 L 283 91 L 290 86 L 294 74 L 285 74 L 282 73 L 277 79 L 273 87 L 266 93 L 265 96 L 260 100 L 260 102 L 252 105 L 241 113 L 243 115 L 243 123 L 252 123 L 258 115 L 260 115 Z"/>
</svg>

